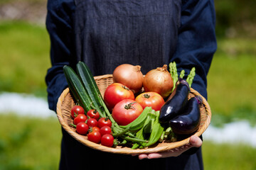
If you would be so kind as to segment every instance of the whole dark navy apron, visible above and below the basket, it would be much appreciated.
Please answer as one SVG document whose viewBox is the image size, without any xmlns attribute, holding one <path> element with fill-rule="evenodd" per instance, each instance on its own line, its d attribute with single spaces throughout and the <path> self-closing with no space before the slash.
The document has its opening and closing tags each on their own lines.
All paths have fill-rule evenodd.
<svg viewBox="0 0 256 170">
<path fill-rule="evenodd" d="M 176 49 L 180 0 L 75 0 L 76 60 L 92 74 L 112 74 L 119 64 L 139 64 L 142 73 L 169 64 Z M 85 147 L 63 130 L 60 169 L 202 169 L 193 155 L 143 159 Z"/>
</svg>

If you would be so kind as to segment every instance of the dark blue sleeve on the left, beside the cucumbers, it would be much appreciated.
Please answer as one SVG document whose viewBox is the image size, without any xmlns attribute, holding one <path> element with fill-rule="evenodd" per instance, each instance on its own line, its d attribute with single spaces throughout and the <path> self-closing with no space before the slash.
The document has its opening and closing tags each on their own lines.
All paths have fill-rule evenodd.
<svg viewBox="0 0 256 170">
<path fill-rule="evenodd" d="M 75 4 L 73 0 L 49 0 L 46 28 L 50 35 L 50 61 L 46 84 L 49 108 L 56 110 L 58 97 L 68 87 L 63 73 L 63 66 L 70 64 L 73 57 L 72 17 Z"/>
</svg>

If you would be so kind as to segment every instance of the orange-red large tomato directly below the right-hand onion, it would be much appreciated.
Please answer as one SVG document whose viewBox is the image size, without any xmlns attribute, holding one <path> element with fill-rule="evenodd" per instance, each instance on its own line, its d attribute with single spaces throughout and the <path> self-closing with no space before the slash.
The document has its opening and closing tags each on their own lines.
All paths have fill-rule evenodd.
<svg viewBox="0 0 256 170">
<path fill-rule="evenodd" d="M 164 98 L 156 92 L 139 94 L 139 96 L 135 98 L 135 101 L 137 101 L 143 109 L 146 108 L 146 106 L 151 106 L 155 111 L 160 111 L 161 106 L 164 105 Z"/>
</svg>

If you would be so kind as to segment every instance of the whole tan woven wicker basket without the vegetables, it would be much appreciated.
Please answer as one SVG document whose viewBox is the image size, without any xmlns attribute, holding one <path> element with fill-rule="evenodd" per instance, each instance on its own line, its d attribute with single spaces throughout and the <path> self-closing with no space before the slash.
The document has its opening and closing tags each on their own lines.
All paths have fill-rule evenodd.
<svg viewBox="0 0 256 170">
<path fill-rule="evenodd" d="M 107 86 L 113 83 L 112 74 L 105 74 L 103 76 L 95 77 L 95 81 L 98 88 L 100 89 L 100 93 L 102 94 L 102 96 L 104 96 L 104 92 Z M 196 95 L 201 96 L 201 94 L 199 94 L 197 91 L 195 91 L 194 89 L 191 89 L 191 94 L 189 95 L 189 98 Z M 203 96 L 201 97 L 203 98 Z M 73 101 L 73 98 L 70 95 L 70 90 L 67 88 L 60 95 L 60 98 L 58 98 L 58 103 L 57 103 L 58 120 L 60 124 L 63 126 L 63 128 L 72 137 L 74 137 L 75 140 L 78 140 L 78 142 L 81 142 L 83 145 L 87 147 L 98 149 L 98 150 L 101 150 L 102 152 L 112 152 L 114 154 L 142 154 L 142 153 L 166 152 L 166 151 L 173 152 L 174 149 L 180 149 L 180 148 L 189 146 L 189 137 L 177 142 L 156 143 L 156 145 L 152 145 L 145 149 L 130 149 L 129 147 L 124 147 L 124 146 L 105 147 L 103 145 L 90 142 L 89 140 L 87 140 L 87 137 L 85 135 L 79 135 L 77 132 L 75 132 L 75 128 L 69 125 L 70 123 L 73 123 L 73 119 L 70 116 L 70 111 L 71 111 L 71 108 L 73 108 L 73 106 L 75 106 L 75 102 Z M 203 98 L 203 105 L 201 106 L 201 124 L 199 126 L 198 131 L 194 135 L 200 136 L 203 134 L 203 132 L 208 128 L 208 125 L 210 125 L 210 118 L 211 118 L 210 106 L 208 105 L 206 98 Z"/>
</svg>

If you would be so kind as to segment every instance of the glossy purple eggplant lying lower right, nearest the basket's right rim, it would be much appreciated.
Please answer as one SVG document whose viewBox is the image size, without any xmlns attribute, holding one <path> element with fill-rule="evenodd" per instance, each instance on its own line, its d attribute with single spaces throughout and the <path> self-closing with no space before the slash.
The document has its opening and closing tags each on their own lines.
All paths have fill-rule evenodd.
<svg viewBox="0 0 256 170">
<path fill-rule="evenodd" d="M 201 96 L 191 98 L 186 105 L 186 110 L 169 121 L 171 129 L 176 135 L 189 135 L 198 130 L 201 122 L 201 103 Z"/>
</svg>

